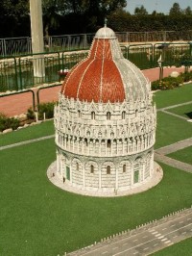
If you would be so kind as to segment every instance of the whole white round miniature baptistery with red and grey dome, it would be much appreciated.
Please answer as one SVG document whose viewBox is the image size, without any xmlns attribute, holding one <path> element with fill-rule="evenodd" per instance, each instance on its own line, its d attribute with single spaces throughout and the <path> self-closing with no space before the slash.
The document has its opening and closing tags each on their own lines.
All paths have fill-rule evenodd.
<svg viewBox="0 0 192 256">
<path fill-rule="evenodd" d="M 154 175 L 151 84 L 105 27 L 69 70 L 55 108 L 56 176 L 84 191 L 121 192 Z"/>
</svg>

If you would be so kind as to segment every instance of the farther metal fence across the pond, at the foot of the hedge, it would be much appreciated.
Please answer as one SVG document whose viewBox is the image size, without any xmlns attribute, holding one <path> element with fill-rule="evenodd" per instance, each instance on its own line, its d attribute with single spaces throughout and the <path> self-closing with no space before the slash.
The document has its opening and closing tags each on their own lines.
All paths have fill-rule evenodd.
<svg viewBox="0 0 192 256">
<path fill-rule="evenodd" d="M 73 51 L 88 49 L 95 34 L 61 35 L 44 38 L 45 52 Z M 190 41 L 190 31 L 117 32 L 121 43 L 146 43 L 157 41 Z M 0 57 L 32 53 L 31 38 L 0 38 Z"/>
</svg>

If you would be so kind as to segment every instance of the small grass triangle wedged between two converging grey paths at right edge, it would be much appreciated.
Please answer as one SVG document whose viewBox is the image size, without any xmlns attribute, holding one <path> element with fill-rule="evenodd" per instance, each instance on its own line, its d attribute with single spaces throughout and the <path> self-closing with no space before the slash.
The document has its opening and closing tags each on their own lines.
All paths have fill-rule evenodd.
<svg viewBox="0 0 192 256">
<path fill-rule="evenodd" d="M 192 146 L 188 146 L 176 152 L 168 154 L 167 156 L 174 158 L 176 160 L 179 160 L 181 162 L 187 163 L 189 165 L 192 165 L 191 152 L 192 152 Z"/>
</svg>

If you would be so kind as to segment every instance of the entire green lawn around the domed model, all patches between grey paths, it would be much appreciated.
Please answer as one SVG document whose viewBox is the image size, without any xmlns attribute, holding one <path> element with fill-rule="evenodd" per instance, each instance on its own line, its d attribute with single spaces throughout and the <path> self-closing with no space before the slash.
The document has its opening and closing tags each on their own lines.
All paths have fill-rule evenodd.
<svg viewBox="0 0 192 256">
<path fill-rule="evenodd" d="M 191 122 L 180 118 L 191 116 L 191 90 L 192 84 L 188 84 L 155 92 L 156 149 L 191 137 Z M 178 104 L 181 106 L 167 110 L 178 116 L 160 110 Z M 39 141 L 25 142 L 34 139 Z M 23 144 L 5 148 L 21 141 Z M 56 159 L 53 120 L 0 135 L 0 150 L 2 256 L 63 255 L 192 204 L 191 173 L 161 163 L 163 179 L 147 192 L 98 198 L 61 191 L 46 176 Z M 190 155 L 191 147 L 186 147 L 169 157 L 192 164 Z M 191 240 L 183 243 L 184 248 L 192 245 Z M 159 255 L 178 255 L 175 246 L 182 245 L 178 243 L 167 249 L 167 254 Z"/>
</svg>

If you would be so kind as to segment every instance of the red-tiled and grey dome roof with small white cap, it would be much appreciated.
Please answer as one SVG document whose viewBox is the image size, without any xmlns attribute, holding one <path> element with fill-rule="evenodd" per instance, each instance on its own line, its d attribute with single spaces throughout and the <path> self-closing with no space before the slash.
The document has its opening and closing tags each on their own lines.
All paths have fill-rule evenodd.
<svg viewBox="0 0 192 256">
<path fill-rule="evenodd" d="M 87 102 L 123 102 L 147 98 L 149 81 L 121 52 L 114 32 L 97 31 L 88 57 L 67 74 L 61 93 Z"/>
</svg>

